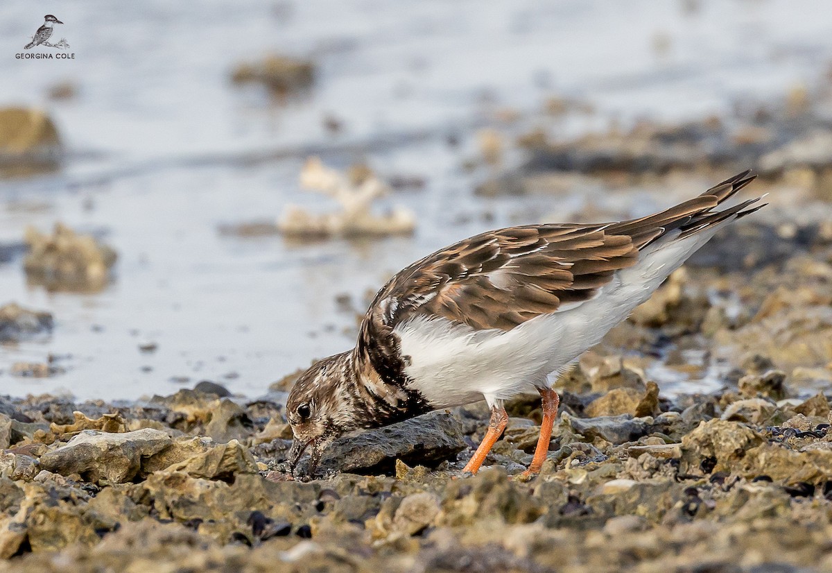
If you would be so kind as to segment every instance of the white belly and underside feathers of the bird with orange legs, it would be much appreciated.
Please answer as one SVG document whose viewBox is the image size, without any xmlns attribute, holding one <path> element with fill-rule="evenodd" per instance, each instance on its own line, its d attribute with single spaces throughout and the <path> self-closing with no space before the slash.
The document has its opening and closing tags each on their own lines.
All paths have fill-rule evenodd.
<svg viewBox="0 0 832 573">
<path fill-rule="evenodd" d="M 475 331 L 442 317 L 414 316 L 394 329 L 402 354 L 410 357 L 405 373 L 436 408 L 483 397 L 493 406 L 545 387 L 548 374 L 600 342 L 713 232 L 656 245 L 642 253 L 636 266 L 617 272 L 591 301 L 537 316 L 511 331 Z"/>
</svg>

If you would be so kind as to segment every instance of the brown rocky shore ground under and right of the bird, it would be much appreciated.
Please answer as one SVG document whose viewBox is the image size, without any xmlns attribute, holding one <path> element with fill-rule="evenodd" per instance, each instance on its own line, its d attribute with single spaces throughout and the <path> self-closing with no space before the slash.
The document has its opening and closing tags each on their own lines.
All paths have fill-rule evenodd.
<svg viewBox="0 0 832 573">
<path fill-rule="evenodd" d="M 342 439 L 308 483 L 280 470 L 291 376 L 253 401 L 2 398 L 0 571 L 832 571 L 832 237 L 735 233 L 744 266 L 715 242 L 559 382 L 529 482 L 533 396 L 478 476 L 483 404 Z M 706 367 L 681 348 L 720 390 L 664 395 L 655 363 Z"/>
</svg>

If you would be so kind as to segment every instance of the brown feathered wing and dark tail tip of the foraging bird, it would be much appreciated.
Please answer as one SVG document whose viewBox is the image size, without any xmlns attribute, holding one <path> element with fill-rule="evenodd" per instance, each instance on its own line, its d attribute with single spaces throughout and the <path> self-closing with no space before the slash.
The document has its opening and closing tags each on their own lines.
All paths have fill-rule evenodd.
<svg viewBox="0 0 832 573">
<path fill-rule="evenodd" d="M 370 306 L 362 337 L 390 331 L 419 314 L 475 330 L 508 331 L 535 316 L 591 300 L 615 272 L 636 264 L 639 250 L 656 239 L 676 231 L 687 237 L 755 210 L 746 207 L 756 199 L 714 210 L 754 177 L 740 173 L 699 197 L 631 221 L 509 227 L 465 239 L 393 277 Z"/>
</svg>

